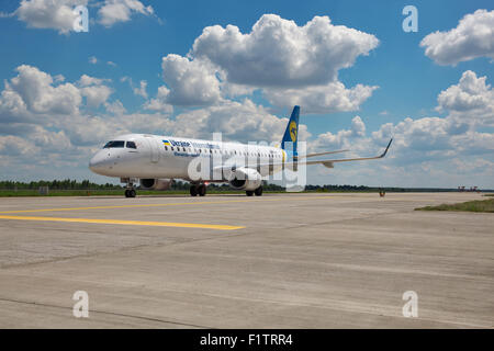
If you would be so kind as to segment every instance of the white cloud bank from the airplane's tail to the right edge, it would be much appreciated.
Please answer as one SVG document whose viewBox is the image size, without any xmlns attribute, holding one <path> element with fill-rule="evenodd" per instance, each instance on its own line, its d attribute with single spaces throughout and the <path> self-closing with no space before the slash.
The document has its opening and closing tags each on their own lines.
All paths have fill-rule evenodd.
<svg viewBox="0 0 494 351">
<path fill-rule="evenodd" d="M 346 157 L 372 156 L 393 137 L 390 154 L 379 162 L 338 165 L 330 171 L 319 169 L 311 181 L 324 182 L 332 174 L 336 182 L 351 179 L 353 183 L 369 183 L 362 178 L 364 174 L 379 179 L 373 182 L 377 185 L 492 188 L 494 133 L 478 128 L 492 126 L 493 101 L 486 78 L 465 71 L 458 84 L 438 95 L 438 110 L 446 112 L 446 117 L 405 117 L 382 124 L 371 133 L 366 133 L 363 121 L 355 117 L 348 129 L 318 135 L 310 144 L 311 150 L 350 149 Z"/>
</svg>

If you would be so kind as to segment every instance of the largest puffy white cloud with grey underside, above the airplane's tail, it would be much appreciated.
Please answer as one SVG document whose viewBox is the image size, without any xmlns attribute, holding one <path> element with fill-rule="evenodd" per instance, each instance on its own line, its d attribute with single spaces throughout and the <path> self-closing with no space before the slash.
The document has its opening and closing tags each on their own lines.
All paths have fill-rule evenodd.
<svg viewBox="0 0 494 351">
<path fill-rule="evenodd" d="M 261 90 L 278 107 L 300 104 L 305 113 L 357 111 L 378 87 L 347 89 L 338 70 L 368 55 L 375 36 L 315 16 L 303 26 L 265 14 L 250 33 L 234 25 L 205 27 L 187 57 L 162 58 L 166 89 L 149 101 L 207 106 Z M 167 95 L 165 97 L 165 93 Z"/>
</svg>

